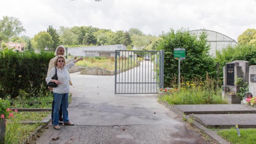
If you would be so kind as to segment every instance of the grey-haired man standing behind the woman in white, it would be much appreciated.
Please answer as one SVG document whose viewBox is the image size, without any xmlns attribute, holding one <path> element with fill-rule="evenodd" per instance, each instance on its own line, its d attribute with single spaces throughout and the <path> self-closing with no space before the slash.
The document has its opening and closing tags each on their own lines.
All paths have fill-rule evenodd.
<svg viewBox="0 0 256 144">
<path fill-rule="evenodd" d="M 55 57 L 52 58 L 49 62 L 47 76 L 48 76 L 49 72 L 51 71 L 51 69 L 54 67 L 55 58 L 58 55 L 64 56 L 64 54 L 65 54 L 65 46 L 63 46 L 63 45 L 58 46 L 57 49 L 55 50 L 55 53 L 54 53 Z M 76 59 L 76 56 L 74 56 L 74 58 L 66 60 L 66 63 L 74 61 L 75 59 Z M 69 85 L 72 85 L 69 73 L 68 73 L 68 76 L 69 76 Z M 53 90 L 53 88 L 51 88 L 51 87 L 48 87 L 48 89 L 51 90 L 51 91 Z M 52 120 L 53 120 L 53 110 L 54 110 L 54 100 L 52 101 Z M 60 121 L 59 124 L 63 124 L 63 122 L 62 122 L 63 121 L 63 119 L 62 119 L 62 105 L 60 105 L 60 110 L 59 110 L 59 121 Z"/>
</svg>

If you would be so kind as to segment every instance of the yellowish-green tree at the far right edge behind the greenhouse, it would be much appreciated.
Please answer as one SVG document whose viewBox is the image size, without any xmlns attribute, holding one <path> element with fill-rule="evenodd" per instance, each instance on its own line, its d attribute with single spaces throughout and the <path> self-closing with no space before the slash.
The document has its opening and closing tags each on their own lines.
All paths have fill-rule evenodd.
<svg viewBox="0 0 256 144">
<path fill-rule="evenodd" d="M 239 44 L 249 44 L 256 41 L 256 29 L 246 29 L 237 38 Z"/>
</svg>

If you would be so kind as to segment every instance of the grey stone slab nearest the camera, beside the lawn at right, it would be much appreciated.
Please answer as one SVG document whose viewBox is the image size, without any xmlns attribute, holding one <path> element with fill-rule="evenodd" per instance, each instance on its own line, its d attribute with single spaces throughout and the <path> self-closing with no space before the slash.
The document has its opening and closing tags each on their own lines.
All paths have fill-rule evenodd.
<svg viewBox="0 0 256 144">
<path fill-rule="evenodd" d="M 256 114 L 205 114 L 190 115 L 207 128 L 256 128 Z"/>
</svg>

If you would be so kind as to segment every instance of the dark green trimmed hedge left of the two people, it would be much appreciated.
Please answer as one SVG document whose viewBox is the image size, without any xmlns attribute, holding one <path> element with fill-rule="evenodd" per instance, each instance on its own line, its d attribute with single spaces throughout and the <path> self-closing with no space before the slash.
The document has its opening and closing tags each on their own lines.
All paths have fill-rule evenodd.
<svg viewBox="0 0 256 144">
<path fill-rule="evenodd" d="M 45 78 L 54 53 L 0 51 L 0 98 L 46 93 Z"/>
</svg>

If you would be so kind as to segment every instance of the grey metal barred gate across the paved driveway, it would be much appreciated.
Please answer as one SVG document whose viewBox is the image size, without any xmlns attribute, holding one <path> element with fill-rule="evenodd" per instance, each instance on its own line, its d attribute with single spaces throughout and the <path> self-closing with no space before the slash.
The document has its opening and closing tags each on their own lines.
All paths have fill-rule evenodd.
<svg viewBox="0 0 256 144">
<path fill-rule="evenodd" d="M 116 50 L 115 94 L 158 93 L 163 87 L 163 50 Z"/>
</svg>

